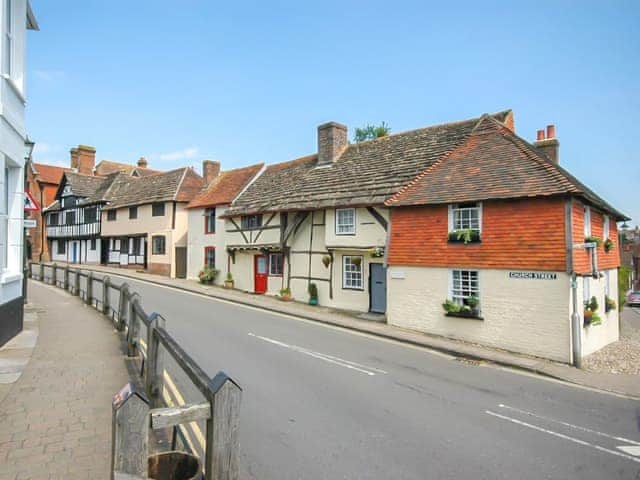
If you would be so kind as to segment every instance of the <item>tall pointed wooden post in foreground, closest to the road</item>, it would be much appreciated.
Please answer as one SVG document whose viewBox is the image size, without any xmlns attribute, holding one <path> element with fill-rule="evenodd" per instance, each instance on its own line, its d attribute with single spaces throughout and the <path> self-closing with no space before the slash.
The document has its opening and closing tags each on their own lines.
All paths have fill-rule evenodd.
<svg viewBox="0 0 640 480">
<path fill-rule="evenodd" d="M 207 420 L 207 480 L 238 479 L 238 425 L 242 389 L 220 372 L 211 380 L 211 418 Z"/>
</svg>

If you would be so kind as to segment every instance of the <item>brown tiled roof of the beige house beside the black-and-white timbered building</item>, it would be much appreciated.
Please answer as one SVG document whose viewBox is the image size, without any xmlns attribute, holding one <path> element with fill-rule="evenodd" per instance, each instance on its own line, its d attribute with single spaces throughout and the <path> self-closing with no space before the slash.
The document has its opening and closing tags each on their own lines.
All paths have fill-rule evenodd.
<svg viewBox="0 0 640 480">
<path fill-rule="evenodd" d="M 169 200 L 189 202 L 202 188 L 202 182 L 190 167 L 140 178 L 119 176 L 109 189 L 105 210 Z"/>
</svg>

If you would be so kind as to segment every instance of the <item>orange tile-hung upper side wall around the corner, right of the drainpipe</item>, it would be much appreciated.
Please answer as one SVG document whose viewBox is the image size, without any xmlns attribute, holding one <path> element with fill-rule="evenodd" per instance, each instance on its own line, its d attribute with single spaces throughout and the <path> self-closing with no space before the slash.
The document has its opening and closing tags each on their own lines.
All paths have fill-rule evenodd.
<svg viewBox="0 0 640 480">
<path fill-rule="evenodd" d="M 584 204 L 575 201 L 572 214 L 573 243 L 584 243 Z M 591 235 L 604 238 L 604 216 L 601 212 L 591 207 Z M 604 251 L 604 246 L 598 247 L 598 269 L 608 270 L 620 266 L 620 252 L 618 249 L 618 229 L 613 218 L 609 217 L 609 238 L 614 246 L 609 252 Z M 573 268 L 576 273 L 589 273 L 592 269 L 591 256 L 585 249 L 574 249 Z"/>
</svg>

